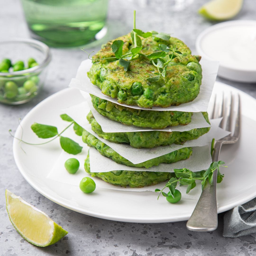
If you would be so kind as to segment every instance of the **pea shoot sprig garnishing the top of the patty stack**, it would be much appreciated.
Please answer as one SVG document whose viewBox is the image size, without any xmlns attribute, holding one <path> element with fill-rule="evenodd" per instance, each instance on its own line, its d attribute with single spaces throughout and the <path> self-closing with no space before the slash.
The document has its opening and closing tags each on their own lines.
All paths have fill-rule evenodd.
<svg viewBox="0 0 256 256">
<path fill-rule="evenodd" d="M 122 40 L 115 40 L 113 41 L 111 48 L 112 52 L 114 53 L 115 57 L 107 57 L 107 58 L 90 58 L 90 54 L 85 51 L 88 54 L 88 58 L 91 59 L 92 61 L 95 60 L 102 60 L 102 59 L 118 59 L 119 64 L 124 67 L 124 71 L 129 70 L 129 66 L 131 63 L 131 60 L 138 58 L 138 56 L 143 56 L 144 58 L 148 59 L 151 61 L 151 63 L 157 68 L 158 70 L 158 75 L 154 77 L 149 77 L 146 78 L 149 82 L 155 82 L 158 81 L 161 77 L 166 76 L 166 69 L 167 69 L 167 64 L 172 61 L 174 58 L 178 58 L 179 60 L 182 60 L 180 55 L 182 55 L 182 52 L 176 50 L 176 45 L 173 47 L 173 49 L 169 48 L 168 45 L 165 44 L 159 44 L 159 51 L 153 52 L 151 54 L 145 55 L 141 51 L 145 49 L 142 45 L 142 40 L 141 37 L 147 38 L 152 36 L 154 40 L 158 41 L 159 39 L 162 39 L 164 41 L 169 41 L 170 35 L 165 34 L 165 33 L 157 33 L 156 31 L 148 31 L 148 32 L 143 32 L 140 29 L 136 29 L 136 11 L 134 10 L 133 14 L 133 30 L 131 32 L 131 38 L 132 42 L 134 44 L 134 47 L 130 50 L 130 52 L 123 54 L 123 45 L 124 41 Z M 163 58 L 165 56 L 169 56 L 169 60 L 164 60 Z M 156 61 L 156 62 L 155 62 Z"/>
</svg>

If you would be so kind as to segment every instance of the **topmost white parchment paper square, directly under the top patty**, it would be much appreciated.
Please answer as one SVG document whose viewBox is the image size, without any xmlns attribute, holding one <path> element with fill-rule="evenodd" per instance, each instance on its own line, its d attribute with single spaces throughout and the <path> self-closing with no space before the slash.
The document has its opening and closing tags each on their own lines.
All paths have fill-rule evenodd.
<svg viewBox="0 0 256 256">
<path fill-rule="evenodd" d="M 76 78 L 72 78 L 69 84 L 70 87 L 88 92 L 101 99 L 111 101 L 113 103 L 123 105 L 134 109 L 145 109 L 145 110 L 158 110 L 158 111 L 184 111 L 184 112 L 205 112 L 207 111 L 209 100 L 211 97 L 211 92 L 216 80 L 219 62 L 210 60 L 201 60 L 200 64 L 202 66 L 202 84 L 200 87 L 200 93 L 195 100 L 188 103 L 180 104 L 179 106 L 169 106 L 167 108 L 153 107 L 152 109 L 140 108 L 138 106 L 128 106 L 126 104 L 120 104 L 116 99 L 108 97 L 101 92 L 98 86 L 91 83 L 90 79 L 87 77 L 87 72 L 91 68 L 91 60 L 87 59 L 82 61 L 80 64 Z"/>
</svg>

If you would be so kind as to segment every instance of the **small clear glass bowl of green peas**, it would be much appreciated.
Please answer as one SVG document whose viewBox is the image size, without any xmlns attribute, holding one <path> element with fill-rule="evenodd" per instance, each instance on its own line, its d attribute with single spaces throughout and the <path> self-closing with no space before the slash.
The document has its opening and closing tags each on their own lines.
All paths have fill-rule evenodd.
<svg viewBox="0 0 256 256">
<path fill-rule="evenodd" d="M 34 39 L 0 41 L 0 103 L 32 100 L 43 87 L 50 49 Z"/>
</svg>

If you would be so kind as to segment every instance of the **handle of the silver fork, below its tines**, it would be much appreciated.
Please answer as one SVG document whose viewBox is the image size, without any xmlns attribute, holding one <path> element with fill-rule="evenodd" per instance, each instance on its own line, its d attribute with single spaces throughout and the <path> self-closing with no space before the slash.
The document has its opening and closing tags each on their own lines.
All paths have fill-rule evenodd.
<svg viewBox="0 0 256 256">
<path fill-rule="evenodd" d="M 221 141 L 214 145 L 212 161 L 217 162 L 220 156 Z M 197 205 L 187 222 L 187 228 L 192 231 L 212 231 L 218 227 L 216 202 L 217 170 L 213 173 L 212 185 L 207 181 Z"/>
</svg>

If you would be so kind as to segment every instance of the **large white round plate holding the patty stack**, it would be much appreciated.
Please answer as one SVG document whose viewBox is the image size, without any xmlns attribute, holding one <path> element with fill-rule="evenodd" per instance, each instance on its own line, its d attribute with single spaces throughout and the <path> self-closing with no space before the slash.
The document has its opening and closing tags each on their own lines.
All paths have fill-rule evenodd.
<svg viewBox="0 0 256 256">
<path fill-rule="evenodd" d="M 229 210 L 256 197 L 256 100 L 233 87 L 216 82 L 214 91 L 221 90 L 231 90 L 241 95 L 242 134 L 237 144 L 224 145 L 221 151 L 220 159 L 229 167 L 222 170 L 225 177 L 217 186 L 218 212 Z M 30 126 L 34 122 L 56 125 L 61 131 L 67 125 L 59 118 L 61 109 L 82 100 L 79 91 L 67 88 L 39 103 L 21 122 L 23 140 L 34 143 L 44 141 L 36 138 L 31 131 Z M 22 130 L 18 127 L 15 136 L 20 138 L 21 134 Z M 85 195 L 78 186 L 46 178 L 61 152 L 57 140 L 42 146 L 22 144 L 22 148 L 19 141 L 14 140 L 14 159 L 27 182 L 50 200 L 83 214 L 126 222 L 182 221 L 189 219 L 198 199 L 183 195 L 177 204 L 169 204 L 164 197 L 157 201 L 157 194 L 151 191 L 131 192 L 103 188 Z M 200 185 L 195 189 L 200 189 Z M 194 193 L 193 190 L 191 193 Z"/>
</svg>

